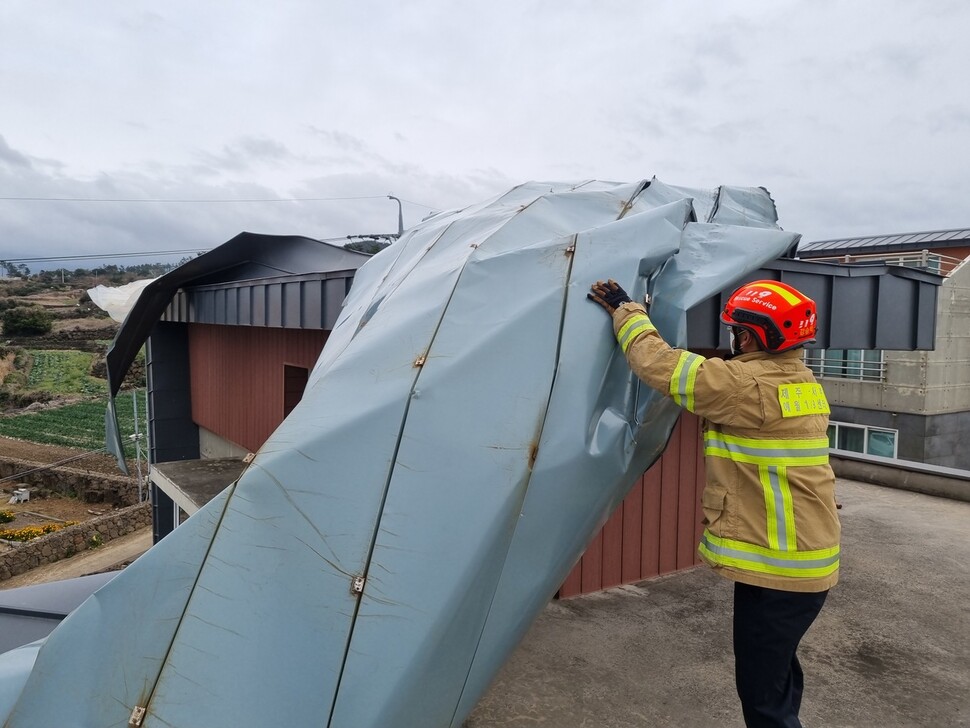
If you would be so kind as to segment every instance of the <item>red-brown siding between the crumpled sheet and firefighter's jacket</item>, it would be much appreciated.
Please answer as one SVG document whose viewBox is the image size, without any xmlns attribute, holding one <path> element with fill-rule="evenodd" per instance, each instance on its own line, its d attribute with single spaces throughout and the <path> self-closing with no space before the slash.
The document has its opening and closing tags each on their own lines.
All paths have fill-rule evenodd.
<svg viewBox="0 0 970 728">
<path fill-rule="evenodd" d="M 703 489 L 700 418 L 684 412 L 663 456 L 590 542 L 559 596 L 588 594 L 700 563 Z"/>
</svg>

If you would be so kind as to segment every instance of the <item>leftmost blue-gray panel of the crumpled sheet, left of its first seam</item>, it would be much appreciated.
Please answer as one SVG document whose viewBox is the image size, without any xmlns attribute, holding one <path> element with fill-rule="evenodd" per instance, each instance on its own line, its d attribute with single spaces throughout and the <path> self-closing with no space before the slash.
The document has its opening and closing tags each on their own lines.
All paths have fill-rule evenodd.
<svg viewBox="0 0 970 728">
<path fill-rule="evenodd" d="M 142 555 L 70 614 L 43 642 L 18 695 L 0 684 L 4 728 L 127 726 L 151 695 L 206 561 L 231 488 Z M 171 539 L 171 541 L 169 541 Z M 193 617 L 188 617 L 193 619 Z M 29 650 L 0 655 L 15 681 Z M 29 666 L 29 665 L 27 665 Z M 186 724 L 189 725 L 189 724 Z"/>
</svg>

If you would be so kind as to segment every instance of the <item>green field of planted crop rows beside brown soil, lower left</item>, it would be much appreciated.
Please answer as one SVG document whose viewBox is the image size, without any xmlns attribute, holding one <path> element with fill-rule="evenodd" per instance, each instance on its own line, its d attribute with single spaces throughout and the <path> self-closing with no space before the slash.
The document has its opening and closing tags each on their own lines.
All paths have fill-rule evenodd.
<svg viewBox="0 0 970 728">
<path fill-rule="evenodd" d="M 104 382 L 102 382 L 104 384 Z M 137 390 L 140 431 L 145 429 L 145 390 Z M 135 456 L 134 445 L 128 436 L 135 431 L 132 408 L 133 392 L 122 392 L 115 399 L 115 409 L 121 437 L 128 457 Z M 82 450 L 104 448 L 104 413 L 107 396 L 65 405 L 56 409 L 28 412 L 15 417 L 0 418 L 0 435 L 15 437 L 43 445 L 59 445 Z"/>
</svg>

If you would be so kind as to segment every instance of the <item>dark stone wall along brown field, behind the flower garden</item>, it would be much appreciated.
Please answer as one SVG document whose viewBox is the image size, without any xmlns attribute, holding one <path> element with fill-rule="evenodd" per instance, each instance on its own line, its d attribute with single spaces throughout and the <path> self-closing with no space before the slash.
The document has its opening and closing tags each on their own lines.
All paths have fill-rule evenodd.
<svg viewBox="0 0 970 728">
<path fill-rule="evenodd" d="M 39 468 L 37 463 L 16 458 L 0 458 L 0 479 L 17 475 L 17 480 L 31 488 L 47 493 L 76 497 L 84 503 L 108 503 L 128 506 L 138 502 L 137 478 L 105 475 L 81 468 L 58 466 L 30 472 Z M 23 475 L 20 475 L 23 474 Z"/>
</svg>

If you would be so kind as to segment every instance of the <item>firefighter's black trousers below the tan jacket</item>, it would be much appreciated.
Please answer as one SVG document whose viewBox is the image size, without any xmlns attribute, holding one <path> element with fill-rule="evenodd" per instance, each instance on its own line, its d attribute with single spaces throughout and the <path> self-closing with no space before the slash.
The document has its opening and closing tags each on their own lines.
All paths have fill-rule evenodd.
<svg viewBox="0 0 970 728">
<path fill-rule="evenodd" d="M 734 676 L 748 728 L 801 728 L 804 681 L 795 651 L 827 594 L 735 582 Z"/>
</svg>

